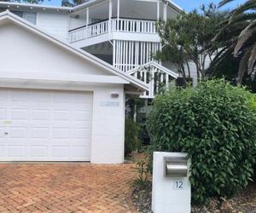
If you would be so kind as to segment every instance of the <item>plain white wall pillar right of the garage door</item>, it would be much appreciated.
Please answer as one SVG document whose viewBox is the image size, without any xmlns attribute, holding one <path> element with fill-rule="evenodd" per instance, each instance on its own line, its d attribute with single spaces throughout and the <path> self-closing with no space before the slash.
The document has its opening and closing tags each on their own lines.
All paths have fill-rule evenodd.
<svg viewBox="0 0 256 213">
<path fill-rule="evenodd" d="M 111 93 L 119 98 L 111 98 Z M 109 107 L 107 107 L 109 102 Z M 113 104 L 115 107 L 111 107 Z M 121 164 L 124 162 L 125 95 L 123 87 L 96 88 L 93 100 L 91 163 Z"/>
</svg>

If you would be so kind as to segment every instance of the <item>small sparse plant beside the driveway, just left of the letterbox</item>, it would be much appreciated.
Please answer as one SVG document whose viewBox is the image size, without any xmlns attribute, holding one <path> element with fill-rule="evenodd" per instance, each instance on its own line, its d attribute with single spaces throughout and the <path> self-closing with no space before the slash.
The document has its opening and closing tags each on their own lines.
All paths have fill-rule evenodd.
<svg viewBox="0 0 256 213">
<path fill-rule="evenodd" d="M 136 168 L 137 171 L 137 179 L 132 182 L 134 187 L 146 187 L 150 184 L 148 179 L 149 169 L 148 169 L 148 160 L 147 159 L 140 159 L 137 161 Z"/>
</svg>

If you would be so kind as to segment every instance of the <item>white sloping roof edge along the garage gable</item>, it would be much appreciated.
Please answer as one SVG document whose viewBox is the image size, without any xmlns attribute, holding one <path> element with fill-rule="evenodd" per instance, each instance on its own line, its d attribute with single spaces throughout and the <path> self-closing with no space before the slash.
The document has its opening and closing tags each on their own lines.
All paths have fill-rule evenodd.
<svg viewBox="0 0 256 213">
<path fill-rule="evenodd" d="M 148 85 L 146 83 L 143 83 L 137 78 L 132 77 L 131 75 L 121 72 L 115 67 L 109 65 L 107 62 L 100 60 L 94 55 L 90 55 L 89 53 L 85 52 L 82 49 L 75 49 L 72 45 L 69 43 L 66 43 L 64 41 L 61 41 L 60 39 L 53 37 L 49 35 L 47 32 L 44 32 L 40 29 L 38 29 L 37 26 L 32 25 L 30 22 L 21 19 L 19 16 L 9 12 L 9 10 L 4 11 L 3 13 L 0 13 L 0 28 L 1 23 L 4 20 L 11 20 L 15 22 L 15 24 L 23 27 L 27 31 L 33 32 L 34 34 L 38 35 L 39 37 L 43 37 L 45 40 L 48 40 L 49 42 L 53 42 L 59 47 L 63 49 L 67 49 L 70 53 L 73 55 L 77 55 L 78 57 L 81 57 L 84 60 L 90 61 L 91 63 L 95 64 L 96 66 L 99 66 L 102 68 L 102 70 L 106 72 L 110 72 L 119 78 L 125 79 L 126 81 L 130 82 L 133 86 L 137 87 L 138 89 L 142 90 L 148 90 Z"/>
</svg>

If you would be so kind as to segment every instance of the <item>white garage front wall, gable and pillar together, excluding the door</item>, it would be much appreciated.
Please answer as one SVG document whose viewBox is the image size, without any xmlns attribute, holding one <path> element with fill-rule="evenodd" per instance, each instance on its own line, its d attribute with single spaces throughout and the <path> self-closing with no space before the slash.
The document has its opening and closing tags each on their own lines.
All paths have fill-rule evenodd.
<svg viewBox="0 0 256 213">
<path fill-rule="evenodd" d="M 55 43 L 27 32 L 11 22 L 0 26 L 0 87 L 22 89 L 61 89 L 93 93 L 91 163 L 120 164 L 124 162 L 125 95 L 124 83 L 82 83 L 38 79 L 22 79 L 27 72 L 92 75 L 95 82 L 111 77 L 108 71 L 90 61 L 82 60 Z M 7 73 L 19 73 L 19 78 L 5 78 Z M 58 74 L 59 73 L 59 74 Z M 2 78 L 1 78 L 2 76 Z M 25 75 L 26 76 L 26 75 Z M 97 77 L 98 76 L 98 77 Z M 118 93 L 113 98 L 111 93 Z"/>
</svg>

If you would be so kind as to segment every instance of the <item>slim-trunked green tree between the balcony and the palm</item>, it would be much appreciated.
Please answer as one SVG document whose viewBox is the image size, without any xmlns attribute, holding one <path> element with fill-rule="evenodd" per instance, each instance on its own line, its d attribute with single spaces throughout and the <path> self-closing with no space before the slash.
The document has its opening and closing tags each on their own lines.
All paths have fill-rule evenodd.
<svg viewBox="0 0 256 213">
<path fill-rule="evenodd" d="M 163 49 L 156 57 L 174 63 L 184 78 L 189 77 L 185 70 L 187 68 L 189 72 L 189 61 L 193 61 L 198 78 L 205 78 L 206 61 L 211 60 L 218 49 L 217 45 L 213 48 L 212 38 L 218 32 L 218 23 L 224 14 L 212 3 L 208 7 L 202 6 L 200 12 L 182 12 L 177 18 L 160 20 L 158 32 Z"/>
</svg>

